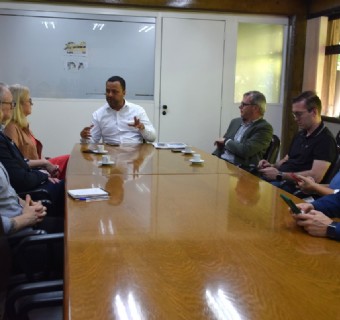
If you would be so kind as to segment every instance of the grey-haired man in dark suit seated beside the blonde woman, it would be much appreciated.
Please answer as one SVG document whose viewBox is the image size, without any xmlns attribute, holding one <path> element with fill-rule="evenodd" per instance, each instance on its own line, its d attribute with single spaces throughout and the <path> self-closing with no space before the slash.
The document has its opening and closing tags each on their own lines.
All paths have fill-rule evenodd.
<svg viewBox="0 0 340 320">
<path fill-rule="evenodd" d="M 6 123 L 12 116 L 12 109 L 15 107 L 11 91 L 6 85 L 0 85 L 0 122 Z M 32 169 L 32 161 L 26 160 L 17 146 L 0 131 L 0 161 L 6 168 L 10 184 L 17 193 L 30 191 L 35 188 L 47 190 L 51 196 L 54 214 L 64 212 L 65 187 L 64 180 L 53 178 L 51 173 L 54 166 L 46 164 L 47 172 Z M 47 161 L 46 161 L 47 162 Z M 48 162 L 49 163 L 49 162 Z"/>
</svg>

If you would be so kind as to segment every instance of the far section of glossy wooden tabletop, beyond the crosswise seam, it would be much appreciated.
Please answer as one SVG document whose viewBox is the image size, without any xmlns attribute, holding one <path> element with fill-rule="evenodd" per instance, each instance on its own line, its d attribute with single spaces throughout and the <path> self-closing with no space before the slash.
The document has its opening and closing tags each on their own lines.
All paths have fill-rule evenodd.
<svg viewBox="0 0 340 320">
<path fill-rule="evenodd" d="M 95 150 L 95 145 L 75 145 L 72 161 L 68 164 L 68 172 L 72 174 L 107 175 L 121 174 L 210 174 L 228 173 L 232 165 L 217 157 L 203 153 L 204 165 L 191 165 L 192 155 L 172 152 L 171 150 L 155 149 L 152 144 L 135 144 L 126 146 L 105 146 L 115 166 L 100 166 L 101 154 L 83 151 Z M 193 148 L 193 151 L 202 153 Z M 208 161 L 209 160 L 209 161 Z M 230 169 L 229 169 L 230 168 Z"/>
</svg>

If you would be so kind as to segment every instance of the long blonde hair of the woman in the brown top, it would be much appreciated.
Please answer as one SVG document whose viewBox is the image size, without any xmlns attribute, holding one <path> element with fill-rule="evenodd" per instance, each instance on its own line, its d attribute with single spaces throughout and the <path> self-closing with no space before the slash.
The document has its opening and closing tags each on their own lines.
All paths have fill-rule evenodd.
<svg viewBox="0 0 340 320">
<path fill-rule="evenodd" d="M 30 91 L 27 87 L 20 84 L 11 85 L 9 90 L 12 93 L 13 101 L 16 102 L 16 107 L 14 108 L 12 114 L 12 121 L 16 122 L 21 128 L 27 128 L 28 121 L 22 109 L 22 103 L 27 99 L 27 97 L 29 97 Z"/>
</svg>

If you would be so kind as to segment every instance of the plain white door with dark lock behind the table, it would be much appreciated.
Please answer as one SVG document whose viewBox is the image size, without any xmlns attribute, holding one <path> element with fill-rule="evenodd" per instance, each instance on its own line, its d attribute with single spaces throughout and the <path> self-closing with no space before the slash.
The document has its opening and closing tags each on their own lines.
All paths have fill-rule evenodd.
<svg viewBox="0 0 340 320">
<path fill-rule="evenodd" d="M 212 152 L 222 106 L 224 21 L 163 18 L 159 141 Z"/>
</svg>

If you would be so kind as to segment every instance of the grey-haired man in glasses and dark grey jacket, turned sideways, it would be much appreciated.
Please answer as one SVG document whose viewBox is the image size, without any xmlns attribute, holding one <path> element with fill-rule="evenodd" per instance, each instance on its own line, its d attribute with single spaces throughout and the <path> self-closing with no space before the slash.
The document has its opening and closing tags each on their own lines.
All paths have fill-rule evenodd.
<svg viewBox="0 0 340 320">
<path fill-rule="evenodd" d="M 263 119 L 266 98 L 258 91 L 243 95 L 240 118 L 231 120 L 223 138 L 215 141 L 214 155 L 236 165 L 257 165 L 268 149 L 272 136 L 272 126 Z"/>
</svg>

